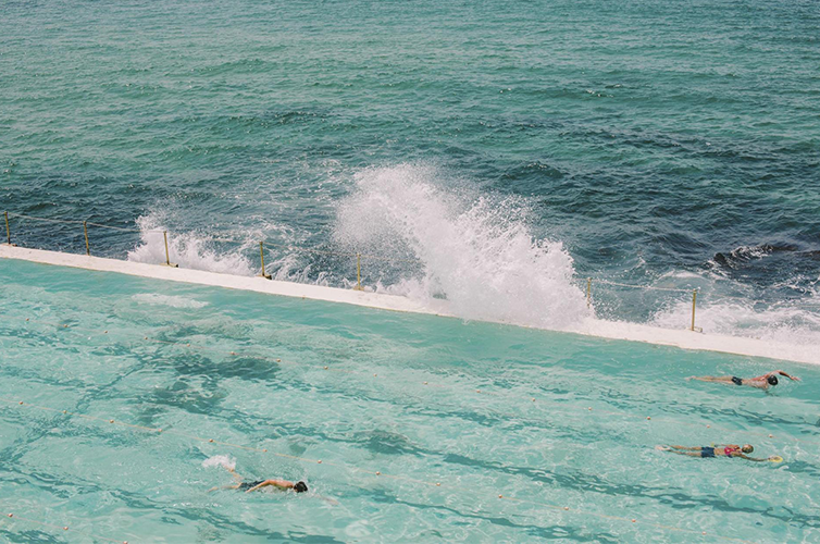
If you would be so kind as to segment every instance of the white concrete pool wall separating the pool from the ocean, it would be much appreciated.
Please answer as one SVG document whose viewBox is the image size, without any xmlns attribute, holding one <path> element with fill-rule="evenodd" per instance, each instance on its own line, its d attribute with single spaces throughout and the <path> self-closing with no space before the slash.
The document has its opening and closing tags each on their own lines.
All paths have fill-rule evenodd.
<svg viewBox="0 0 820 544">
<path fill-rule="evenodd" d="M 457 318 L 449 312 L 446 300 L 417 301 L 405 297 L 384 295 L 336 287 L 323 287 L 301 283 L 277 282 L 262 277 L 220 274 L 202 270 L 178 269 L 162 264 L 103 259 L 85 255 L 62 254 L 41 249 L 0 245 L 0 258 L 18 259 L 42 264 L 71 267 L 99 272 L 151 277 L 171 282 L 211 285 L 231 289 L 251 290 L 268 295 L 309 298 L 330 302 L 349 304 L 392 311 L 427 313 L 444 318 Z M 751 357 L 768 357 L 820 364 L 820 346 L 778 344 L 769 341 L 697 333 L 685 329 L 660 329 L 637 323 L 605 321 L 589 318 L 562 332 L 632 342 L 674 346 L 682 349 L 719 351 Z"/>
</svg>

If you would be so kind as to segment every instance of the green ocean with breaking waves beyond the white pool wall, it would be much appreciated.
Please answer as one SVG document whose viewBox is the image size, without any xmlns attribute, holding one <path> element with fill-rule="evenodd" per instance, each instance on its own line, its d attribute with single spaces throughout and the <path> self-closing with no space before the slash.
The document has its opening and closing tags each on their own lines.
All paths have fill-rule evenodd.
<svg viewBox="0 0 820 544">
<path fill-rule="evenodd" d="M 90 227 L 96 255 L 163 260 L 167 230 L 181 265 L 253 274 L 265 239 L 275 276 L 349 286 L 362 252 L 390 259 L 363 260 L 369 287 L 556 329 L 587 276 L 699 288 L 706 332 L 820 343 L 813 0 L 0 18 L 0 207 L 142 231 Z M 84 249 L 76 224 L 11 226 Z M 688 298 L 594 285 L 607 319 L 682 327 Z"/>
</svg>

